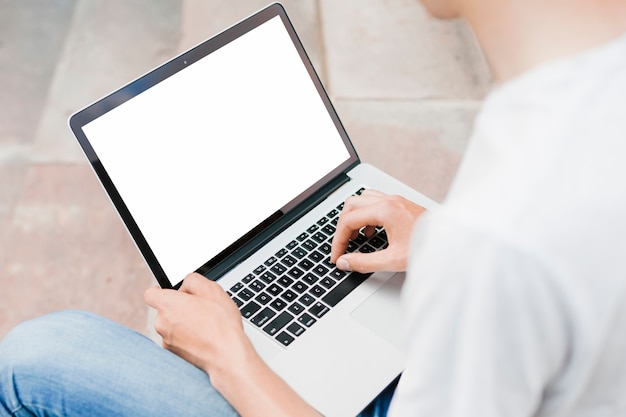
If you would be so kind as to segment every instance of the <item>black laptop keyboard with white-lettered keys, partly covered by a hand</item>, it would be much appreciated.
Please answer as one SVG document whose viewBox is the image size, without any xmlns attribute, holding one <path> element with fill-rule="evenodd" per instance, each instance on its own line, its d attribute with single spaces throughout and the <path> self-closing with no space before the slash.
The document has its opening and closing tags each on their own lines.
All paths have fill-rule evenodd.
<svg viewBox="0 0 626 417">
<path fill-rule="evenodd" d="M 371 275 L 341 271 L 330 262 L 332 237 L 342 208 L 343 203 L 227 291 L 244 319 L 284 346 Z M 370 238 L 359 233 L 347 250 L 374 252 L 387 245 L 385 230 L 377 227 Z"/>
</svg>

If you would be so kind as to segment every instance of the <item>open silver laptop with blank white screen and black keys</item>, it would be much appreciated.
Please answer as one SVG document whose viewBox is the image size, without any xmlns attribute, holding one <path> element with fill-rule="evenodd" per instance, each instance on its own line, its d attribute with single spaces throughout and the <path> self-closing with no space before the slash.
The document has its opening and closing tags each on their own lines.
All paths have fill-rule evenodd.
<svg viewBox="0 0 626 417">
<path fill-rule="evenodd" d="M 402 372 L 404 275 L 340 271 L 330 244 L 364 189 L 436 204 L 361 163 L 280 4 L 69 125 L 159 284 L 217 281 L 261 357 L 320 413 L 356 415 Z M 349 250 L 386 245 L 378 227 Z"/>
</svg>

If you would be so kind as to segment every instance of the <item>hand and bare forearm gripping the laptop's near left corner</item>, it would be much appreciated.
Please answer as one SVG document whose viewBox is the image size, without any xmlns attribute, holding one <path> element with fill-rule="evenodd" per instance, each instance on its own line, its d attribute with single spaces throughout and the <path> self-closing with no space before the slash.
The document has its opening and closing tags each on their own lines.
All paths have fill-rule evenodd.
<svg viewBox="0 0 626 417">
<path fill-rule="evenodd" d="M 219 284 L 190 274 L 180 290 L 149 288 L 145 299 L 157 309 L 163 346 L 207 372 L 241 416 L 320 417 L 256 353 Z"/>
</svg>

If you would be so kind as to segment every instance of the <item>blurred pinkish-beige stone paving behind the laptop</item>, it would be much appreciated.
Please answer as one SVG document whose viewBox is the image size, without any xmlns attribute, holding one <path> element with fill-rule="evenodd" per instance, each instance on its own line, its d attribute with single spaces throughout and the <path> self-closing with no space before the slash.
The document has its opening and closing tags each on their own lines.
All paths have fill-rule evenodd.
<svg viewBox="0 0 626 417">
<path fill-rule="evenodd" d="M 67 128 L 267 0 L 0 0 L 0 338 L 86 309 L 148 332 L 152 277 Z M 285 0 L 362 160 L 441 201 L 491 76 L 417 0 Z"/>
</svg>

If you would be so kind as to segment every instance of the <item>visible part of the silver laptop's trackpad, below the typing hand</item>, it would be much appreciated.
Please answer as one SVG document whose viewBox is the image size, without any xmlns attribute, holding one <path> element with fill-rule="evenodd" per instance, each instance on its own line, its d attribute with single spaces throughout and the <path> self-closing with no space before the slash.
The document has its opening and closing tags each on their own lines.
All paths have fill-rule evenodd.
<svg viewBox="0 0 626 417">
<path fill-rule="evenodd" d="M 400 290 L 404 273 L 395 274 L 350 315 L 397 348 L 403 346 Z"/>
</svg>

